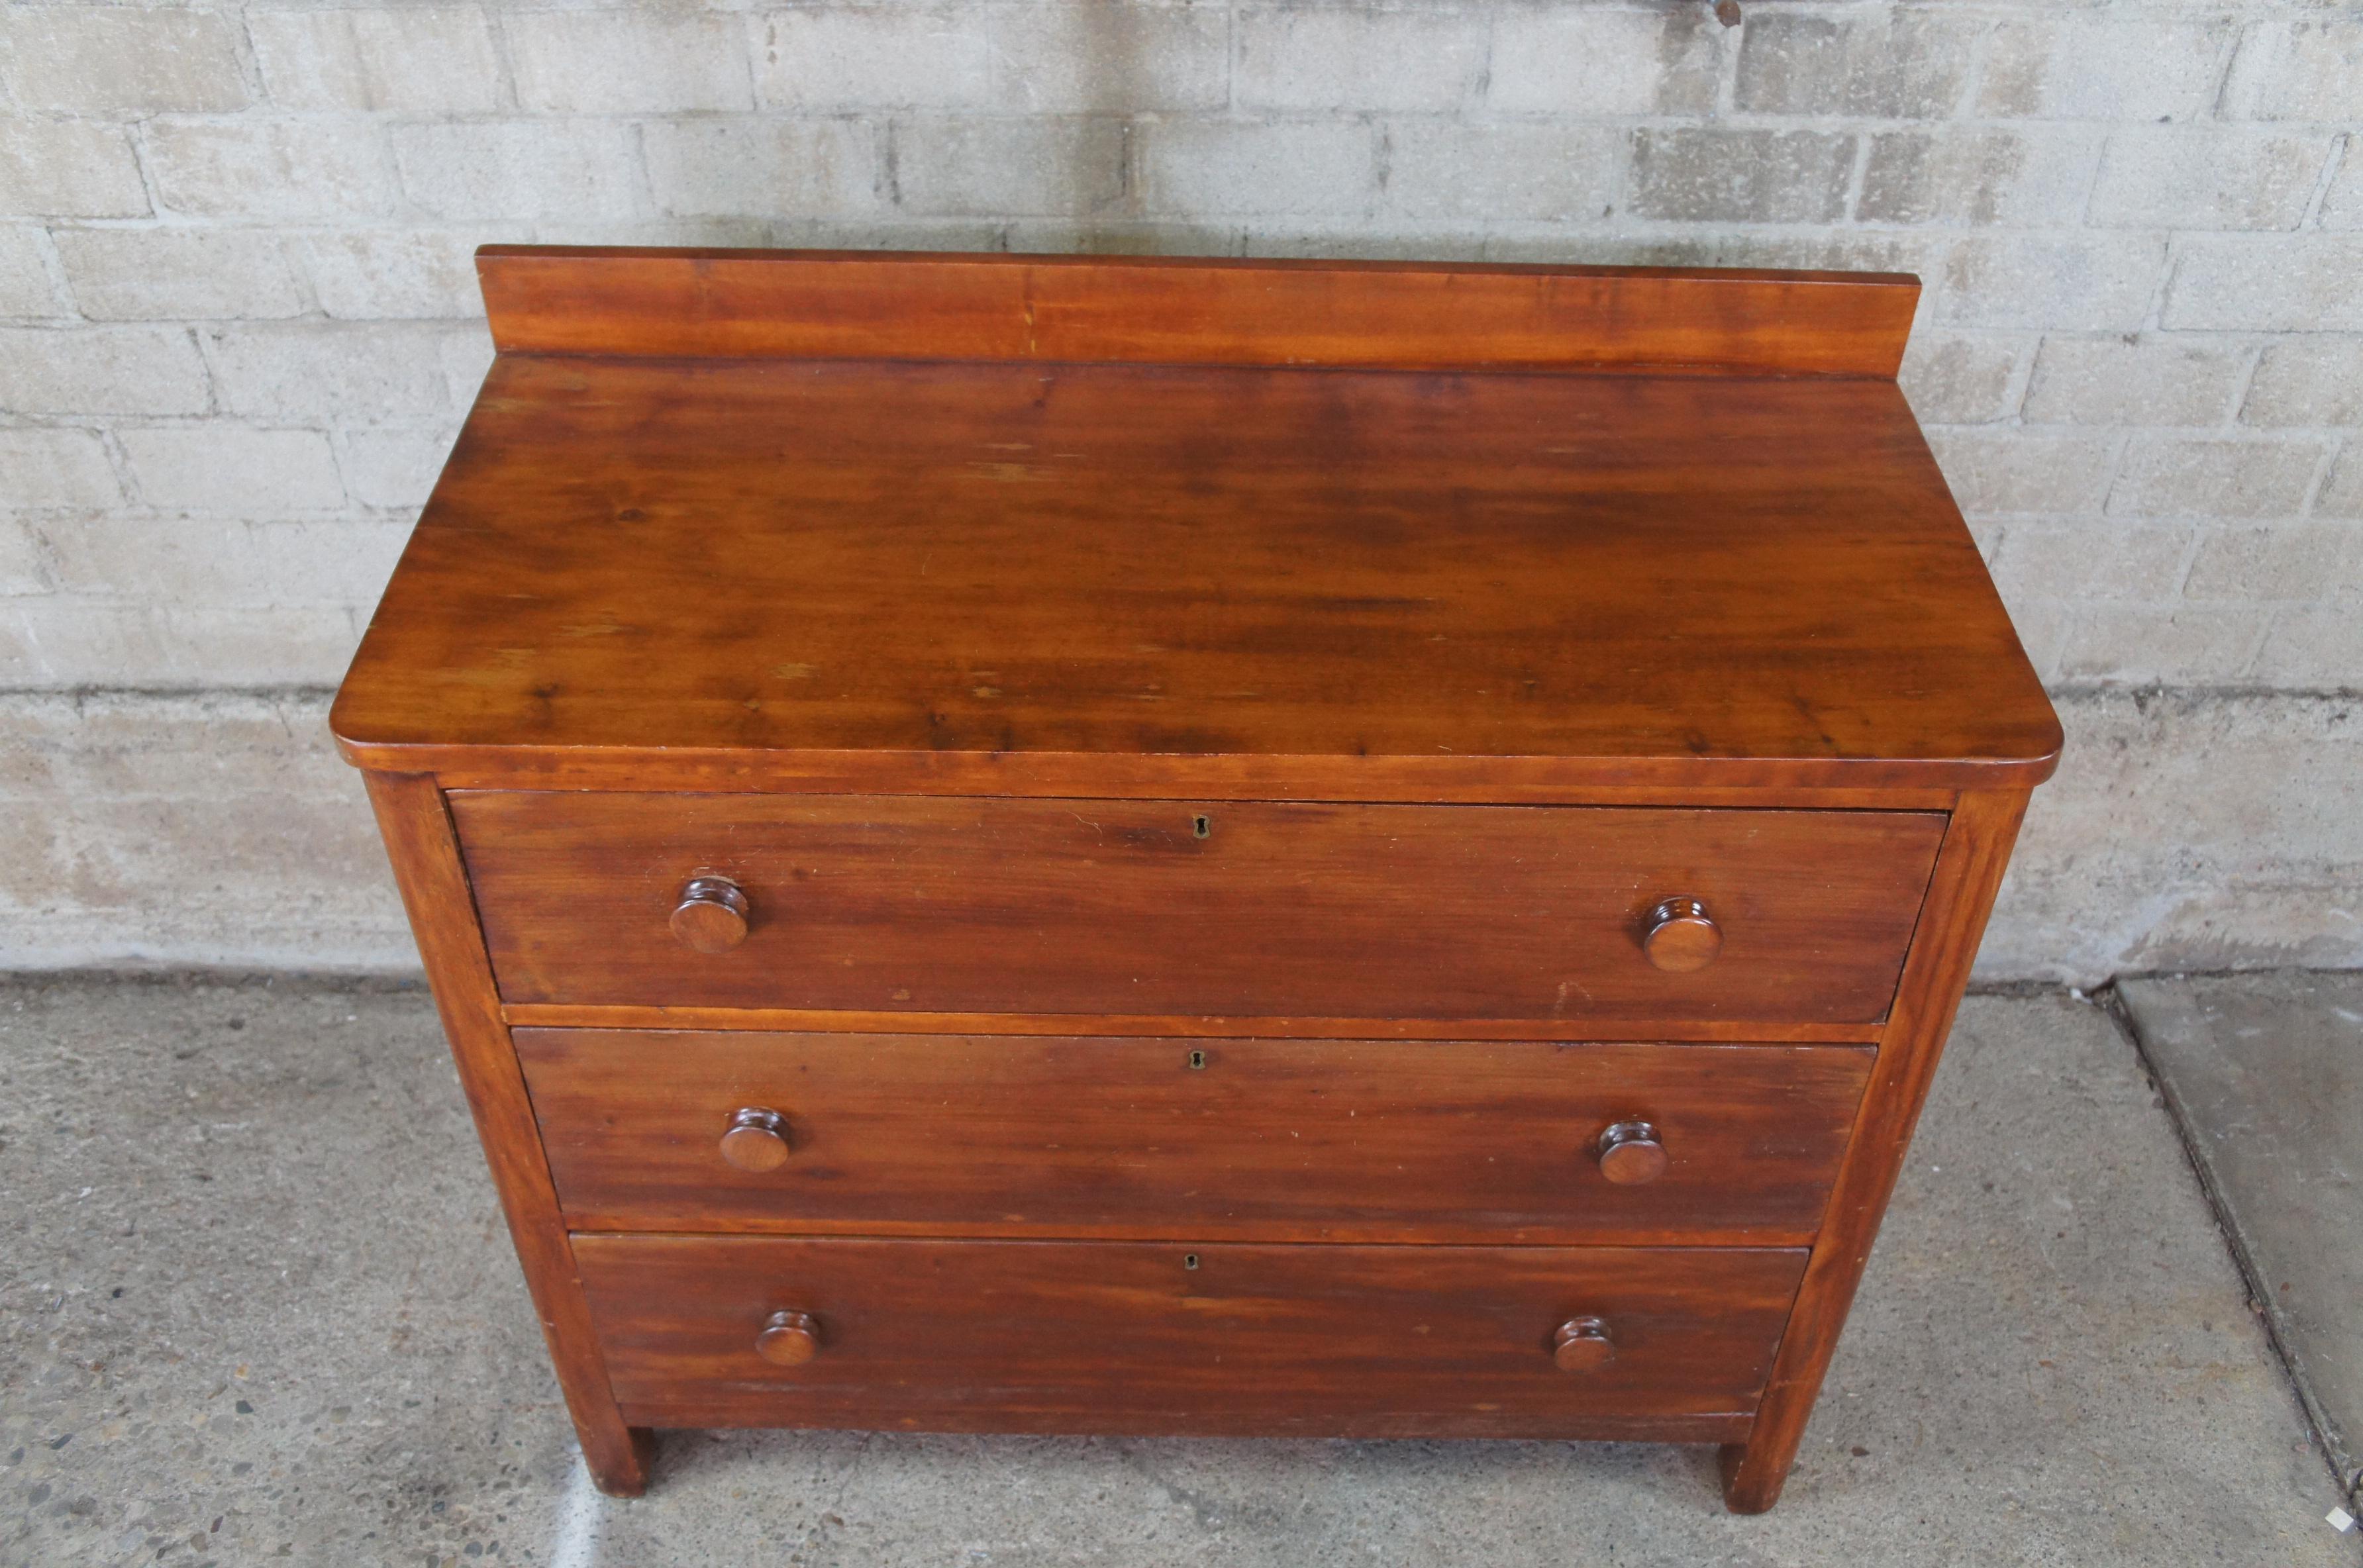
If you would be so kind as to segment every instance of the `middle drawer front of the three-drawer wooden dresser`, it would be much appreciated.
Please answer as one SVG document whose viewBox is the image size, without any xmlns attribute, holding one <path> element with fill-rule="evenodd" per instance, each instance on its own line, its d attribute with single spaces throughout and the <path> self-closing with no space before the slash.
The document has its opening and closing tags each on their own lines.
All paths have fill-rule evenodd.
<svg viewBox="0 0 2363 1568">
<path fill-rule="evenodd" d="M 1805 1242 L 1871 1065 L 1869 1046 L 515 1041 L 577 1230 Z M 1628 1145 L 1602 1169 L 1609 1126 Z"/>
</svg>

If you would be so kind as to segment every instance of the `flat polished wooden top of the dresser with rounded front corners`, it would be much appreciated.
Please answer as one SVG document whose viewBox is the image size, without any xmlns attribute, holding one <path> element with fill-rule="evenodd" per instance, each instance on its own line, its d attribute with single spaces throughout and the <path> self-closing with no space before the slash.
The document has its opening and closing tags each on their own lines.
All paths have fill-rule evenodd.
<svg viewBox="0 0 2363 1568">
<path fill-rule="evenodd" d="M 1078 779 L 2025 786 L 2058 749 L 1881 375 L 740 354 L 503 352 L 333 727 L 371 767 Z"/>
</svg>

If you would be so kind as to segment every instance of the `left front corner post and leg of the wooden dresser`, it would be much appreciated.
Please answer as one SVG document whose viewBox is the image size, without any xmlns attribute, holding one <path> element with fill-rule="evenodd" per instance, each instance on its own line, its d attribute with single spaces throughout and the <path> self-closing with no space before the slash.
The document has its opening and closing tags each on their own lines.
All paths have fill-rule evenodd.
<svg viewBox="0 0 2363 1568">
<path fill-rule="evenodd" d="M 525 1285 L 541 1315 L 541 1337 L 551 1346 L 584 1462 L 603 1492 L 638 1497 L 647 1488 L 652 1438 L 645 1429 L 626 1426 L 607 1391 L 607 1363 L 574 1278 L 574 1252 L 558 1219 L 558 1193 L 541 1157 L 525 1077 L 492 994 L 492 971 L 484 966 L 484 942 L 468 904 L 468 878 L 444 798 L 432 779 L 380 772 L 369 775 L 369 803 L 395 862 L 402 907 L 418 937 L 435 1011 L 501 1193 L 508 1240 L 517 1247 Z"/>
</svg>

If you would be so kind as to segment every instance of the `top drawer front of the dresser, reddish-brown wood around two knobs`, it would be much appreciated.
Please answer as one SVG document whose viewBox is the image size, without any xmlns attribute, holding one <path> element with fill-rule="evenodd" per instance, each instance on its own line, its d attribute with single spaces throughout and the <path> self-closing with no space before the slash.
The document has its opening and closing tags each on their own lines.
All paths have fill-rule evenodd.
<svg viewBox="0 0 2363 1568">
<path fill-rule="evenodd" d="M 1881 1020 L 1945 827 L 922 796 L 451 808 L 508 1001 L 1635 1025 Z M 744 890 L 728 952 L 669 930 L 697 874 Z M 1704 968 L 1642 947 L 1673 897 L 1720 930 Z"/>
</svg>

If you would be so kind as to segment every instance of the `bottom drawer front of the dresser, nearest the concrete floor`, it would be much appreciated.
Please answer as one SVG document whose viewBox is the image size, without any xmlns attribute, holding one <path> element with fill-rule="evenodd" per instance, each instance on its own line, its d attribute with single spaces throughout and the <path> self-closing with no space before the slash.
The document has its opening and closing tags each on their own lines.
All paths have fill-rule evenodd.
<svg viewBox="0 0 2363 1568">
<path fill-rule="evenodd" d="M 577 1235 L 636 1426 L 1742 1436 L 1779 1249 Z M 773 1313 L 811 1360 L 759 1351 Z M 1557 1360 L 1562 1325 L 1597 1320 Z M 1597 1360 L 1602 1358 L 1604 1360 Z"/>
</svg>

